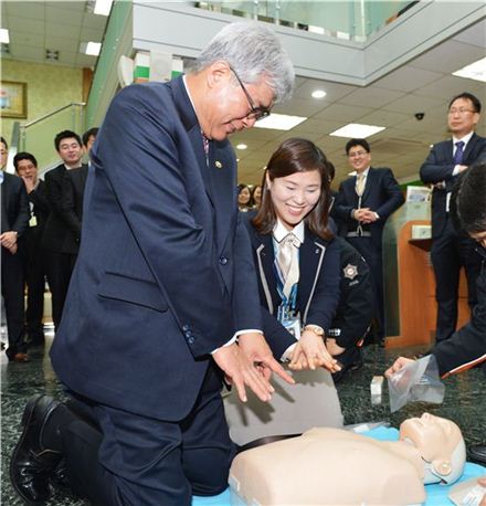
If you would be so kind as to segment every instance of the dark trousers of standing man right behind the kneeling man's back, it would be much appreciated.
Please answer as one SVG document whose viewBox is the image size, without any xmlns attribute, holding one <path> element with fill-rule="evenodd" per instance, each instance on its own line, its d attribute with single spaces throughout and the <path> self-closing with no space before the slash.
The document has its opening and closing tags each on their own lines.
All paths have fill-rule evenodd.
<svg viewBox="0 0 486 506">
<path fill-rule="evenodd" d="M 52 319 L 57 330 L 73 272 L 72 255 L 46 251 L 45 268 L 52 297 Z"/>
</svg>

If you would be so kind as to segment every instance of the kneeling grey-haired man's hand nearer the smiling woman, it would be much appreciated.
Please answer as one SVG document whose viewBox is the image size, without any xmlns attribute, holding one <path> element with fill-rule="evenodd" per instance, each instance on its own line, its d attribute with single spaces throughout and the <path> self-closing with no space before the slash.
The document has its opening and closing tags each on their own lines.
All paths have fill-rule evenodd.
<svg viewBox="0 0 486 506">
<path fill-rule="evenodd" d="M 279 376 L 284 381 L 294 384 L 292 376 L 275 360 L 268 344 L 262 334 L 247 333 L 237 337 L 237 344 L 251 363 L 256 365 L 261 375 L 270 381 L 272 372 Z"/>
</svg>

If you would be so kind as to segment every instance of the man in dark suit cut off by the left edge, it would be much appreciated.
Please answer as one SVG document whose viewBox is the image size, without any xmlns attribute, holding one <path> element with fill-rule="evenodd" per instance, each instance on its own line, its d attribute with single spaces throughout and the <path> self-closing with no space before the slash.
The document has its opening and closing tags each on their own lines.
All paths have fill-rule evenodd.
<svg viewBox="0 0 486 506">
<path fill-rule="evenodd" d="M 22 179 L 4 171 L 8 146 L 0 138 L 1 178 L 1 292 L 6 307 L 9 347 L 7 357 L 17 362 L 28 361 L 24 340 L 23 303 L 23 234 L 29 224 L 29 203 Z"/>
</svg>

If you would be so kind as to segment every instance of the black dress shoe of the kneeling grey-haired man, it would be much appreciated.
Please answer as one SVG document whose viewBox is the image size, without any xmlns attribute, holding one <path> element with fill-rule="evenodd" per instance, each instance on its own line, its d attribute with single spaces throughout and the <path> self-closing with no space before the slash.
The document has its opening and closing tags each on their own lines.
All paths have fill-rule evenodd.
<svg viewBox="0 0 486 506">
<path fill-rule="evenodd" d="M 10 479 L 29 505 L 51 497 L 50 475 L 62 458 L 60 452 L 43 447 L 41 436 L 52 412 L 60 405 L 52 397 L 32 397 L 23 412 L 23 432 L 10 461 Z"/>
</svg>

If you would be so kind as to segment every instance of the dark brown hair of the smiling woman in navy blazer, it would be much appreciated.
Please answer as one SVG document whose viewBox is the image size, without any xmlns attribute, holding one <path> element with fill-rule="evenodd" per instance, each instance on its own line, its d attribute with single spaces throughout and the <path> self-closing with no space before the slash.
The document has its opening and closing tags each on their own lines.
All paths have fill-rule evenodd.
<svg viewBox="0 0 486 506">
<path fill-rule="evenodd" d="M 305 217 L 304 222 L 315 235 L 329 240 L 332 232 L 328 228 L 328 209 L 330 203 L 329 178 L 326 155 L 310 140 L 292 138 L 284 140 L 268 161 L 262 181 L 262 203 L 256 217 L 252 220 L 255 229 L 262 234 L 271 234 L 276 222 L 272 196 L 266 185 L 296 172 L 318 170 L 320 173 L 320 197 L 314 209 Z"/>
</svg>

